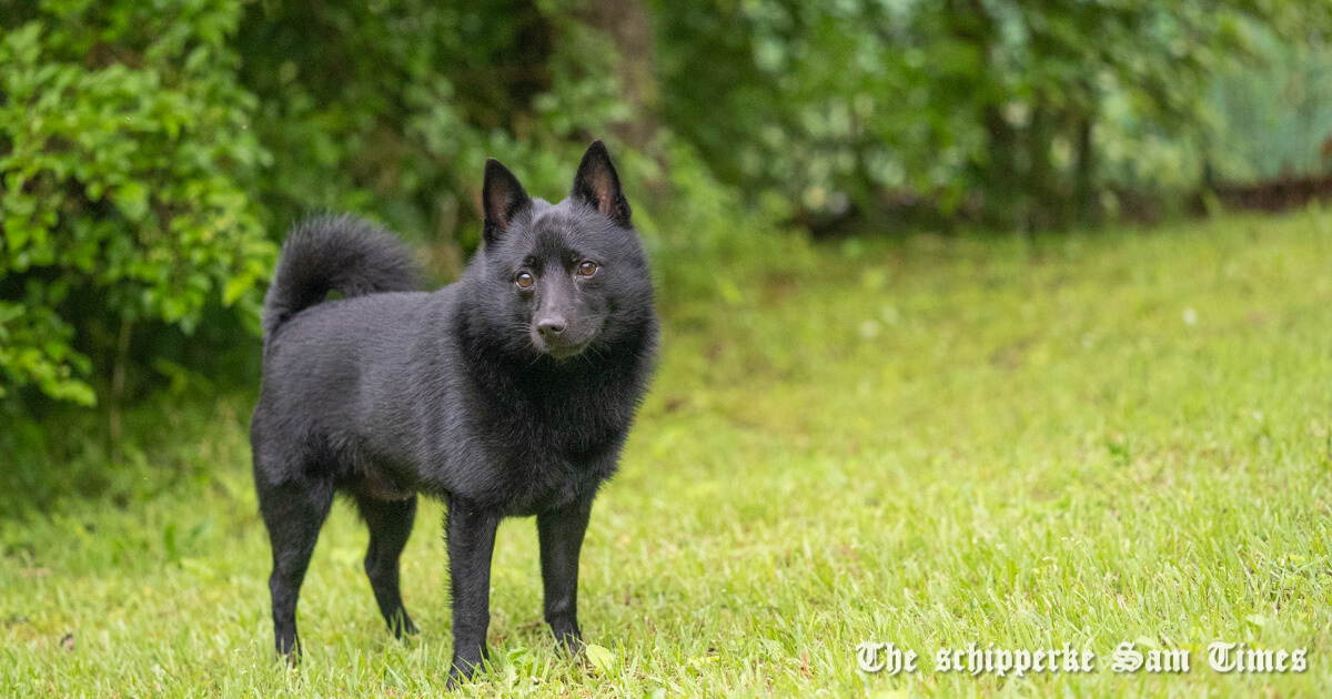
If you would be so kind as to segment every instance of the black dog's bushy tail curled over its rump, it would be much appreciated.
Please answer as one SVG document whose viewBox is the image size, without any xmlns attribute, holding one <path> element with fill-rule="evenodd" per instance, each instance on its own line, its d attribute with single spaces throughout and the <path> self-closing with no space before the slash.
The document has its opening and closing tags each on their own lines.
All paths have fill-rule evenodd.
<svg viewBox="0 0 1332 699">
<path fill-rule="evenodd" d="M 282 244 L 264 297 L 264 340 L 329 292 L 344 298 L 414 292 L 420 278 L 410 250 L 386 230 L 352 216 L 306 218 Z"/>
</svg>

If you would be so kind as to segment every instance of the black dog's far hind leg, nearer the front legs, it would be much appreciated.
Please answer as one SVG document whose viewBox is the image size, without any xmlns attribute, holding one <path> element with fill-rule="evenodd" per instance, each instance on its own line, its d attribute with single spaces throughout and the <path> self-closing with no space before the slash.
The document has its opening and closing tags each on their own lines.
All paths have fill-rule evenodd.
<svg viewBox="0 0 1332 699">
<path fill-rule="evenodd" d="M 370 578 L 370 588 L 374 590 L 374 599 L 380 603 L 384 620 L 400 639 L 405 634 L 416 634 L 416 624 L 402 606 L 402 590 L 398 586 L 398 559 L 408 545 L 412 523 L 416 519 L 416 495 L 405 501 L 381 501 L 357 495 L 356 505 L 370 527 L 365 575 Z"/>
</svg>

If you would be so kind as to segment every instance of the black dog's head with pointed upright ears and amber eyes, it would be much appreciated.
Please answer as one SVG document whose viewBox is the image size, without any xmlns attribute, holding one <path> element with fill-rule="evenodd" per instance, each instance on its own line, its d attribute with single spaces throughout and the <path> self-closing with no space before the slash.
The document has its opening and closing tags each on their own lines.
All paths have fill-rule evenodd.
<svg viewBox="0 0 1332 699">
<path fill-rule="evenodd" d="M 481 197 L 486 313 L 506 346 L 567 359 L 651 322 L 647 258 L 601 141 L 559 204 L 529 197 L 497 160 L 486 161 Z"/>
</svg>

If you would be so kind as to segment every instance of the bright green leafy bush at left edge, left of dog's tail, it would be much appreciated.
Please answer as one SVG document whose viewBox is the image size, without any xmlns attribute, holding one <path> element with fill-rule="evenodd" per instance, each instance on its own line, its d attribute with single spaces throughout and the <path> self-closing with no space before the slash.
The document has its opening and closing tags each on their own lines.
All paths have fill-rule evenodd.
<svg viewBox="0 0 1332 699">
<path fill-rule="evenodd" d="M 0 395 L 96 399 L 136 324 L 257 322 L 273 245 L 246 182 L 268 153 L 210 0 L 19 5 L 0 40 Z M 7 19 L 7 21 L 9 21 Z"/>
</svg>

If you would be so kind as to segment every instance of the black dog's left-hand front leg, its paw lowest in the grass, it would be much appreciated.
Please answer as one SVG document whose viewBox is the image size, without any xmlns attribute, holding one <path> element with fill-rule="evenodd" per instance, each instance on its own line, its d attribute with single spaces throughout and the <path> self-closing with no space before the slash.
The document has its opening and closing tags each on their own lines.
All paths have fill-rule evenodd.
<svg viewBox="0 0 1332 699">
<path fill-rule="evenodd" d="M 500 514 L 453 498 L 445 515 L 453 586 L 453 667 L 449 682 L 470 678 L 485 660 L 490 626 L 490 557 Z"/>
</svg>

